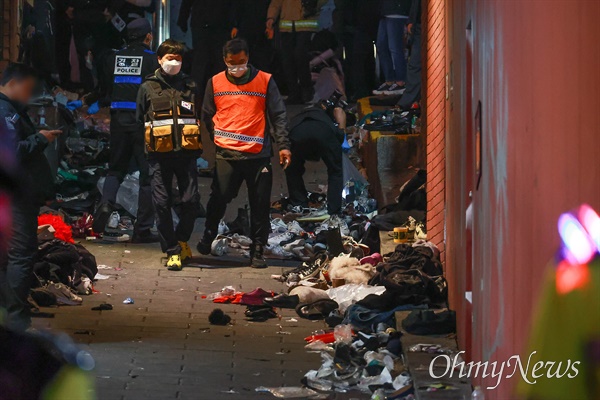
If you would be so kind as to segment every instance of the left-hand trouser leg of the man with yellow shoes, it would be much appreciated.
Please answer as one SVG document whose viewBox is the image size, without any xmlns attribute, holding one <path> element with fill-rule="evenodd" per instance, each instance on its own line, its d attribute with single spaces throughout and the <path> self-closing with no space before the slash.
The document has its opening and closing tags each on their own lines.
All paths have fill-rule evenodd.
<svg viewBox="0 0 600 400">
<path fill-rule="evenodd" d="M 152 189 L 152 203 L 156 210 L 156 226 L 160 236 L 160 246 L 167 256 L 179 254 L 181 248 L 177 243 L 175 229 L 173 228 L 173 215 L 171 213 L 173 191 L 173 164 L 176 159 L 149 161 L 150 186 Z"/>
</svg>

